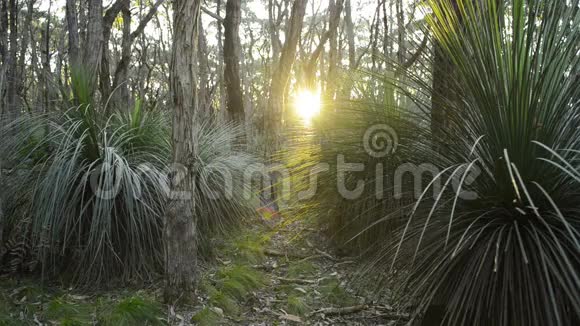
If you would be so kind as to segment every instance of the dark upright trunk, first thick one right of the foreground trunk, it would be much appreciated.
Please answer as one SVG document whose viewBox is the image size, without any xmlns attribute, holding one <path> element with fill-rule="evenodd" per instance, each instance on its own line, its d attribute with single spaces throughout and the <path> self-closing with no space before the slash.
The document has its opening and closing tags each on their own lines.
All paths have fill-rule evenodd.
<svg viewBox="0 0 580 326">
<path fill-rule="evenodd" d="M 224 23 L 224 81 L 226 86 L 226 108 L 230 121 L 238 124 L 244 121 L 244 102 L 240 82 L 241 44 L 239 28 L 241 22 L 241 1 L 228 0 Z"/>
</svg>

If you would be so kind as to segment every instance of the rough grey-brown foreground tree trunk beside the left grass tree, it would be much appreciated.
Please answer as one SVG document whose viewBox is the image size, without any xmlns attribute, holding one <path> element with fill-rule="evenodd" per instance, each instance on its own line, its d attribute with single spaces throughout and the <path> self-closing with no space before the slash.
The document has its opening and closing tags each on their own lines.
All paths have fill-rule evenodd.
<svg viewBox="0 0 580 326">
<path fill-rule="evenodd" d="M 171 57 L 171 94 L 173 97 L 173 162 L 182 166 L 171 183 L 172 198 L 165 221 L 166 291 L 165 298 L 194 296 L 197 272 L 197 221 L 192 196 L 193 180 L 187 171 L 196 153 L 193 139 L 197 110 L 195 66 L 201 0 L 174 0 L 173 51 Z M 178 180 L 178 181 L 176 181 Z"/>
</svg>

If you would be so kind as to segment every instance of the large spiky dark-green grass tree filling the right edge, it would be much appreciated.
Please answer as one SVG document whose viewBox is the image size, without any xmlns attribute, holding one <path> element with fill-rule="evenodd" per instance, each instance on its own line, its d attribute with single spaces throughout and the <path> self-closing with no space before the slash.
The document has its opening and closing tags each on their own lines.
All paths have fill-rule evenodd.
<svg viewBox="0 0 580 326">
<path fill-rule="evenodd" d="M 373 267 L 406 270 L 418 315 L 441 304 L 446 325 L 578 323 L 579 3 L 428 4 L 458 101 L 430 154 L 440 172 Z"/>
</svg>

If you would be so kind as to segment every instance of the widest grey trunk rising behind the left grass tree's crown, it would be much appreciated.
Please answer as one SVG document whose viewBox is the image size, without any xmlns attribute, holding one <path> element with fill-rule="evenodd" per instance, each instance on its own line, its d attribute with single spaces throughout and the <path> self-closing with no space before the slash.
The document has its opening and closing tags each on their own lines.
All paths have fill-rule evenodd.
<svg viewBox="0 0 580 326">
<path fill-rule="evenodd" d="M 103 54 L 103 0 L 88 1 L 87 42 L 84 46 L 83 66 L 88 74 L 89 91 L 92 94 L 97 85 Z"/>
</svg>

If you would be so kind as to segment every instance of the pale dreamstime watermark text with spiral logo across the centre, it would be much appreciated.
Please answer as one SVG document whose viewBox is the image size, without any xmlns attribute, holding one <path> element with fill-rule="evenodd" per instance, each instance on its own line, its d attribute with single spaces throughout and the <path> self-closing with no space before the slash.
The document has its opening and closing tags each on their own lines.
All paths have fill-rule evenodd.
<svg viewBox="0 0 580 326">
<path fill-rule="evenodd" d="M 222 158 L 190 167 L 172 164 L 165 169 L 145 163 L 131 168 L 130 173 L 119 165 L 104 163 L 93 170 L 90 185 L 93 193 L 102 199 L 121 194 L 141 198 L 150 194 L 142 189 L 149 184 L 172 200 L 195 200 L 199 196 L 209 200 L 232 199 L 240 195 L 250 200 L 260 191 L 269 197 L 275 184 L 278 199 L 307 201 L 316 196 L 321 182 L 325 186 L 335 183 L 337 193 L 345 200 L 360 199 L 368 196 L 369 191 L 378 200 L 389 196 L 397 200 L 404 197 L 438 200 L 443 192 L 463 200 L 477 198 L 475 192 L 468 190 L 481 174 L 474 163 L 443 170 L 432 163 L 403 163 L 393 168 L 388 164 L 389 156 L 397 153 L 399 137 L 386 124 L 369 127 L 361 145 L 368 156 L 366 160 L 349 162 L 347 153 L 337 154 L 332 162 L 301 168 L 298 178 L 293 174 L 295 169 L 283 164 L 249 162 L 240 168 L 239 164 Z M 235 156 L 229 158 L 235 159 Z"/>
</svg>

